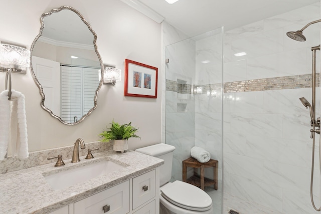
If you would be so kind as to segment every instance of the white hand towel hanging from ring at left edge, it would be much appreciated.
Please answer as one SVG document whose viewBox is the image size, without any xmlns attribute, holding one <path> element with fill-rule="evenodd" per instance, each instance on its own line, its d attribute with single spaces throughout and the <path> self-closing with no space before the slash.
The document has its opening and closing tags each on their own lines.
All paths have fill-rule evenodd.
<svg viewBox="0 0 321 214">
<path fill-rule="evenodd" d="M 0 112 L 0 119 L 4 118 L 0 122 L 0 127 L 4 127 L 0 132 L 0 160 L 4 159 L 9 146 L 13 157 L 27 158 L 29 151 L 25 96 L 12 90 L 11 100 L 8 100 L 8 90 L 5 90 L 0 94 L 0 108 L 2 105 L 6 112 Z"/>
</svg>

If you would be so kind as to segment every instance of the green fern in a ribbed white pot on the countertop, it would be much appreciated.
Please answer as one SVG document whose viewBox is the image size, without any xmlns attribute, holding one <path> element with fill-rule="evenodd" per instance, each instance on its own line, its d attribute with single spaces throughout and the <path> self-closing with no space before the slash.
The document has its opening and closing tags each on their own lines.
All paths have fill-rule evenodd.
<svg viewBox="0 0 321 214">
<path fill-rule="evenodd" d="M 135 134 L 138 128 L 133 127 L 131 125 L 131 122 L 129 122 L 128 124 L 120 125 L 119 123 L 116 123 L 113 120 L 111 122 L 111 127 L 107 129 L 109 130 L 103 130 L 103 132 L 99 134 L 99 136 L 102 137 L 101 141 L 109 142 L 110 140 L 112 140 L 114 143 L 113 150 L 120 151 L 121 153 L 128 149 L 127 140 L 129 138 L 139 137 Z"/>
</svg>

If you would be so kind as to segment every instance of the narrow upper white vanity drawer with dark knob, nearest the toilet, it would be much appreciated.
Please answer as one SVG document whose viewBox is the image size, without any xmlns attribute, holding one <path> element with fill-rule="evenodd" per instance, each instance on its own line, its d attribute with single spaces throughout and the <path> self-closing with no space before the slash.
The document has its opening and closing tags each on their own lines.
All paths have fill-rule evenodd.
<svg viewBox="0 0 321 214">
<path fill-rule="evenodd" d="M 132 208 L 135 209 L 155 196 L 155 170 L 134 177 L 132 182 Z"/>
</svg>

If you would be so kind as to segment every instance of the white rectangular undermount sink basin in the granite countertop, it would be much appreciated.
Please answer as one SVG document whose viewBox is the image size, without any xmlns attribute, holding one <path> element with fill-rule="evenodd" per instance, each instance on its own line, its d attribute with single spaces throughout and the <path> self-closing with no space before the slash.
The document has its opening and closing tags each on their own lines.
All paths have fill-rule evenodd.
<svg viewBox="0 0 321 214">
<path fill-rule="evenodd" d="M 51 175 L 43 175 L 53 189 L 64 189 L 89 179 L 124 168 L 111 160 L 102 160 L 65 170 Z"/>
</svg>

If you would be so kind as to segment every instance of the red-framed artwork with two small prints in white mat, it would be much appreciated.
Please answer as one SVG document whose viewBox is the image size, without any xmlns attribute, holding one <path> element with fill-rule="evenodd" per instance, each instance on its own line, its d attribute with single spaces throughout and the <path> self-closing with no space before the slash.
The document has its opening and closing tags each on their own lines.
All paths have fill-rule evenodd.
<svg viewBox="0 0 321 214">
<path fill-rule="evenodd" d="M 158 69 L 125 59 L 125 96 L 157 98 Z"/>
</svg>

